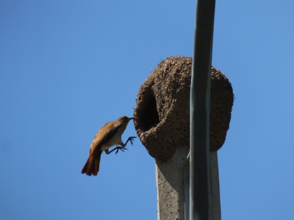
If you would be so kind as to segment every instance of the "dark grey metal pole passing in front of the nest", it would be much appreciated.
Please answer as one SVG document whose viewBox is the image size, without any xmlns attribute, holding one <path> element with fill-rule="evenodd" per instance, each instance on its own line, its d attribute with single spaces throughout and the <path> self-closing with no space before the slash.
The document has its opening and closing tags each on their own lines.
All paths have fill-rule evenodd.
<svg viewBox="0 0 294 220">
<path fill-rule="evenodd" d="M 215 0 L 198 0 L 190 94 L 190 220 L 209 215 L 209 114 Z"/>
</svg>

